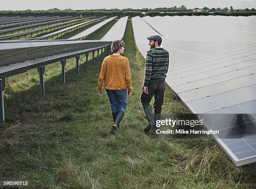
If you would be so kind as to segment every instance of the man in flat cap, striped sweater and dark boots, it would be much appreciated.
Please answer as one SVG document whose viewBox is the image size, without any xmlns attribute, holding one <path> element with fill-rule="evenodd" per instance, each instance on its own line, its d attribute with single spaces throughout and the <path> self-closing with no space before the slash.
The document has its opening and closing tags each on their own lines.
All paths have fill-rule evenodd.
<svg viewBox="0 0 256 189">
<path fill-rule="evenodd" d="M 148 119 L 148 126 L 144 131 L 150 131 L 160 119 L 165 92 L 165 77 L 169 66 L 169 52 L 161 47 L 162 38 L 159 35 L 147 37 L 150 50 L 146 54 L 145 78 L 141 104 Z M 154 102 L 154 117 L 150 107 L 152 97 Z"/>
</svg>

